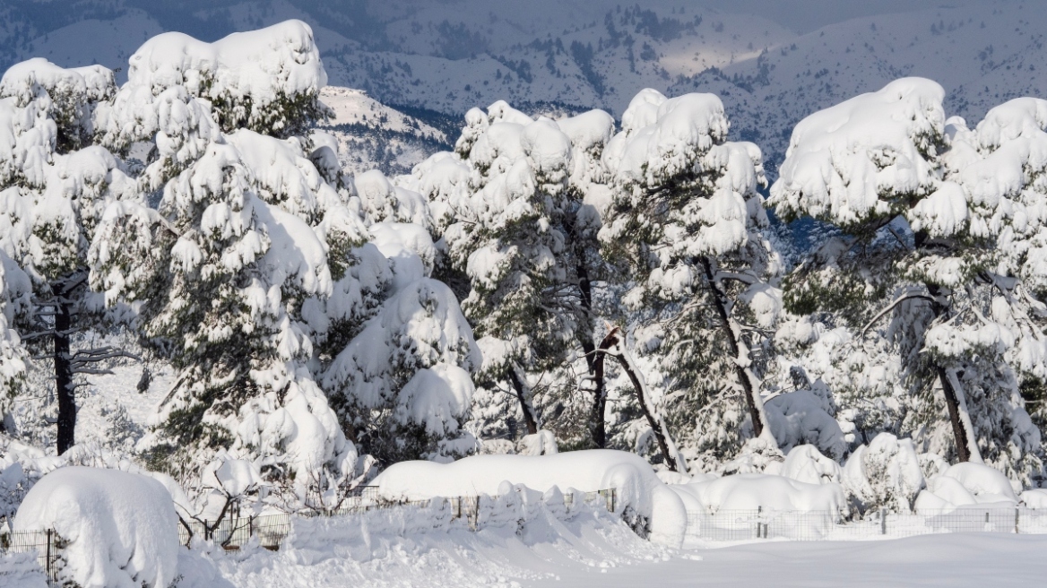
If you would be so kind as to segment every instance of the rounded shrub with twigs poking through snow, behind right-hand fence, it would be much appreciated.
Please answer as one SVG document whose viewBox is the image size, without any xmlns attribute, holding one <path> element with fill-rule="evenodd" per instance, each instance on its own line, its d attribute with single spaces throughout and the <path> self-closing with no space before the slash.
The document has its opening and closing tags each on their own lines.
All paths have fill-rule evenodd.
<svg viewBox="0 0 1047 588">
<path fill-rule="evenodd" d="M 851 453 L 841 481 L 860 512 L 887 508 L 892 513 L 908 513 L 923 488 L 923 473 L 912 439 L 899 439 L 884 432 Z"/>
</svg>

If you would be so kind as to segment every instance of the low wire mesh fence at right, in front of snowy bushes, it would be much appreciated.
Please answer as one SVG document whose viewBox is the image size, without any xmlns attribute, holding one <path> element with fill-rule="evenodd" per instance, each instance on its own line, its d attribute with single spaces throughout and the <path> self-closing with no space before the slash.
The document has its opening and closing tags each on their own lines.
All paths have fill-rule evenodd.
<svg viewBox="0 0 1047 588">
<path fill-rule="evenodd" d="M 869 514 L 845 520 L 830 511 L 718 511 L 689 513 L 687 537 L 704 541 L 834 541 L 899 538 L 935 533 L 1047 534 L 1047 510 L 961 507 L 952 511 Z"/>
</svg>

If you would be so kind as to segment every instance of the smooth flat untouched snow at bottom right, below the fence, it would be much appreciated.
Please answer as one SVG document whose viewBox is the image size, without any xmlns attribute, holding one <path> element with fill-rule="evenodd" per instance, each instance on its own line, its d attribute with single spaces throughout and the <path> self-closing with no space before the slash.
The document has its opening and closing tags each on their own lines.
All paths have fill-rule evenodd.
<svg viewBox="0 0 1047 588">
<path fill-rule="evenodd" d="M 604 569 L 567 566 L 521 586 L 1030 586 L 1047 573 L 1047 536 L 933 535 L 872 543 L 760 542 Z M 698 560 L 700 558 L 700 560 Z"/>
</svg>

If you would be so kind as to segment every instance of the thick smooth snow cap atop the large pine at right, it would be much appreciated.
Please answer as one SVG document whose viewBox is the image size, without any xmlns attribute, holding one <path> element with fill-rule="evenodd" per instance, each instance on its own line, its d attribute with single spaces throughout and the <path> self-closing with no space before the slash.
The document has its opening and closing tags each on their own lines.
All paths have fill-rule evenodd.
<svg viewBox="0 0 1047 588">
<path fill-rule="evenodd" d="M 819 111 L 796 126 L 771 188 L 784 214 L 848 226 L 893 217 L 937 186 L 945 92 L 920 77 Z"/>
</svg>

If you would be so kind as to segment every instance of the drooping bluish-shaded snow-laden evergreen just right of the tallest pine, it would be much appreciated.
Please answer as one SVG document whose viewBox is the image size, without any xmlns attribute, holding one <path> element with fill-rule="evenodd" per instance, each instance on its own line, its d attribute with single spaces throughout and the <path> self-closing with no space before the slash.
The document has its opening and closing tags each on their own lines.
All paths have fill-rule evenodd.
<svg viewBox="0 0 1047 588">
<path fill-rule="evenodd" d="M 481 362 L 453 293 L 422 277 L 385 302 L 334 358 L 322 384 L 346 426 L 383 463 L 447 458 L 475 444 L 455 451 L 451 442 L 463 435 L 470 372 Z"/>
</svg>

